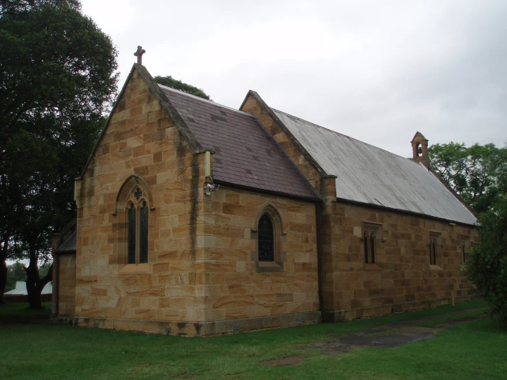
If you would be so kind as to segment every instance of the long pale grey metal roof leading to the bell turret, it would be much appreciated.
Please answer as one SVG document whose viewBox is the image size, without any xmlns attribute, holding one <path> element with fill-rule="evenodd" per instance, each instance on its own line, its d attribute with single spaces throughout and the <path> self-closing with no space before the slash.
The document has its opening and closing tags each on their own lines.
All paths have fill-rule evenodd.
<svg viewBox="0 0 507 380">
<path fill-rule="evenodd" d="M 336 178 L 336 196 L 474 224 L 475 216 L 426 167 L 272 109 L 314 160 Z"/>
</svg>

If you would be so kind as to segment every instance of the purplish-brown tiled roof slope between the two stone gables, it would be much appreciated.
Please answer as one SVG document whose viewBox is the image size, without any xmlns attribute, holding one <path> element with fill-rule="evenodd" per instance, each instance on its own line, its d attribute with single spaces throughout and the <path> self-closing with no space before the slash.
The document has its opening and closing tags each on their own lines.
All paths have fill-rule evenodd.
<svg viewBox="0 0 507 380">
<path fill-rule="evenodd" d="M 200 144 L 215 150 L 215 180 L 303 198 L 319 198 L 255 117 L 159 86 Z"/>
</svg>

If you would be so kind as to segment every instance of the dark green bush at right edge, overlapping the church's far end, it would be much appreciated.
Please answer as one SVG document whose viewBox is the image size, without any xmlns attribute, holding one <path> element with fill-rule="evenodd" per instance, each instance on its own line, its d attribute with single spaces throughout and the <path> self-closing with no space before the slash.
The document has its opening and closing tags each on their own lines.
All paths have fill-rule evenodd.
<svg viewBox="0 0 507 380">
<path fill-rule="evenodd" d="M 507 329 L 507 198 L 499 197 L 480 215 L 481 242 L 467 259 L 464 273 L 484 292 L 490 315 Z"/>
</svg>

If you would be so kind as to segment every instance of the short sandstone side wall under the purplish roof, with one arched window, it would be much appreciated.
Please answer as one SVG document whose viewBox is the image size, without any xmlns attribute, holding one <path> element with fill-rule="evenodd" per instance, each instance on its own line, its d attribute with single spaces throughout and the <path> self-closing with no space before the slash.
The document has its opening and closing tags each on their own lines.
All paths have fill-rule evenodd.
<svg viewBox="0 0 507 380">
<path fill-rule="evenodd" d="M 266 206 L 276 209 L 283 225 L 281 234 L 275 234 L 282 254 L 276 272 L 263 272 L 256 263 L 255 231 Z M 220 187 L 204 200 L 204 246 L 204 260 L 198 260 L 197 267 L 205 278 L 205 285 L 198 286 L 205 320 L 297 313 L 298 324 L 318 322 L 314 203 Z M 277 318 L 254 322 L 263 327 L 281 324 Z M 216 333 L 233 332 L 234 324 L 223 326 L 225 331 Z"/>
</svg>

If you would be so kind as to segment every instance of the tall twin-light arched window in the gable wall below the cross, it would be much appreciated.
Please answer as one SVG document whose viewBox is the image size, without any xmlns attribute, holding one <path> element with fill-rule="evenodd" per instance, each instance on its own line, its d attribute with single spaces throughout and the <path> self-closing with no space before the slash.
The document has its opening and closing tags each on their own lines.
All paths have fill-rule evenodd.
<svg viewBox="0 0 507 380">
<path fill-rule="evenodd" d="M 130 176 L 117 195 L 118 263 L 148 263 L 149 214 L 152 198 L 148 185 Z"/>
</svg>

